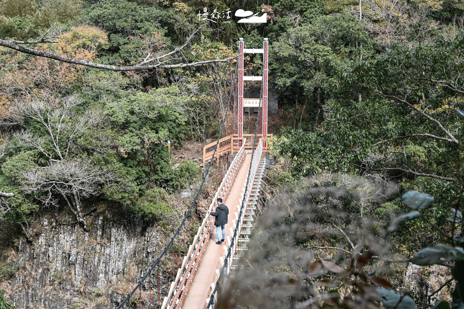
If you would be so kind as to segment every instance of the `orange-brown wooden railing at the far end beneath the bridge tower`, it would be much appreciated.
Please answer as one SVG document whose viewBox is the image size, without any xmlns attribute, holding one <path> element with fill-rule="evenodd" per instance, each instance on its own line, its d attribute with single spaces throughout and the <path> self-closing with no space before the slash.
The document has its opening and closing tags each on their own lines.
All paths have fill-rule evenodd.
<svg viewBox="0 0 464 309">
<path fill-rule="evenodd" d="M 244 134 L 243 138 L 245 140 L 245 149 L 253 149 L 253 138 L 254 134 Z M 272 134 L 268 134 L 267 137 L 272 137 Z M 258 135 L 257 138 L 261 138 Z M 218 150 L 216 152 L 216 160 L 219 161 L 219 157 L 225 153 L 235 153 L 238 151 L 240 147 L 238 147 L 238 134 L 231 134 L 223 137 L 219 140 Z M 203 164 L 206 161 L 211 160 L 213 157 L 214 147 L 216 146 L 216 142 L 209 143 L 203 147 Z M 267 152 L 269 147 L 264 147 L 263 152 Z"/>
</svg>

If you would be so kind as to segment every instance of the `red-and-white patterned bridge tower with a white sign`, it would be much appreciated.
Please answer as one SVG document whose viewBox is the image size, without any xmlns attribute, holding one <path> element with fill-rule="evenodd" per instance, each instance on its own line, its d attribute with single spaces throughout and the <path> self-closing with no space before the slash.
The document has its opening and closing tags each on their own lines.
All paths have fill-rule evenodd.
<svg viewBox="0 0 464 309">
<path fill-rule="evenodd" d="M 267 136 L 267 103 L 268 103 L 268 71 L 269 71 L 269 42 L 264 39 L 263 48 L 244 48 L 243 38 L 238 41 L 238 147 L 243 142 L 243 108 L 260 107 L 259 118 L 261 122 L 260 132 L 263 134 L 263 146 L 266 147 Z M 263 54 L 263 76 L 244 76 L 245 53 L 262 53 Z M 243 82 L 246 80 L 261 81 L 261 98 L 248 99 L 244 102 Z"/>
</svg>

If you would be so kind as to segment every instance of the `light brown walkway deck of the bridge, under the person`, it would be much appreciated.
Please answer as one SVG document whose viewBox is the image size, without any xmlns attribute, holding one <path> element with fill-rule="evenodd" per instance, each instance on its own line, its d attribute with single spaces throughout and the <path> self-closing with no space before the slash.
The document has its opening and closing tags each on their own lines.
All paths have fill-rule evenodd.
<svg viewBox="0 0 464 309">
<path fill-rule="evenodd" d="M 242 193 L 244 182 L 248 176 L 250 161 L 251 154 L 245 155 L 245 159 L 238 171 L 232 188 L 230 189 L 226 200 L 224 200 L 224 204 L 226 204 L 229 208 L 229 218 L 226 224 L 226 238 L 227 236 L 232 237 L 232 235 L 230 235 L 230 227 L 232 227 L 232 219 L 235 218 L 234 213 L 239 207 L 238 200 L 240 199 L 240 193 Z M 206 308 L 206 298 L 210 296 L 211 283 L 216 277 L 215 271 L 217 269 L 219 257 L 226 256 L 226 253 L 224 252 L 224 245 L 226 245 L 227 240 L 222 245 L 216 245 L 215 243 L 217 241 L 218 237 L 216 236 L 216 229 L 214 228 L 181 309 Z"/>
</svg>

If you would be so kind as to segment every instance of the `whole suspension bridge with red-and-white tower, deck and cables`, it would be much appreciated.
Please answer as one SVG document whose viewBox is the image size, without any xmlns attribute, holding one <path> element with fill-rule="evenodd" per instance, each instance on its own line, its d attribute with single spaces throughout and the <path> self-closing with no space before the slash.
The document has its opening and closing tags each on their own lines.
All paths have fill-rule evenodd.
<svg viewBox="0 0 464 309">
<path fill-rule="evenodd" d="M 244 55 L 263 54 L 262 76 L 244 76 Z M 259 212 L 261 180 L 266 168 L 269 43 L 245 49 L 238 43 L 238 61 L 228 109 L 219 138 L 203 148 L 205 163 L 201 185 L 177 231 L 135 288 L 116 307 L 140 309 L 213 309 L 228 276 L 240 267 Z M 244 81 L 261 81 L 259 98 L 244 98 Z M 254 134 L 243 134 L 244 107 L 258 108 Z M 236 134 L 222 136 L 230 109 L 237 114 Z M 222 245 L 210 216 L 216 200 L 229 208 L 226 240 Z"/>
</svg>

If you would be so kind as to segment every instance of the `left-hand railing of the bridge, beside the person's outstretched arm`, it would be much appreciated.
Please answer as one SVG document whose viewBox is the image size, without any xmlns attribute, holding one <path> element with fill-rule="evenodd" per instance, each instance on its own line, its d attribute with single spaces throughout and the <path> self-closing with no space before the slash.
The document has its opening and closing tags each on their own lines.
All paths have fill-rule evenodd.
<svg viewBox="0 0 464 309">
<path fill-rule="evenodd" d="M 237 155 L 235 155 L 231 166 L 227 170 L 224 179 L 220 183 L 219 188 L 216 191 L 216 194 L 214 195 L 214 198 L 211 202 L 211 205 L 209 206 L 209 209 L 205 214 L 205 219 L 203 219 L 201 225 L 199 226 L 198 232 L 193 238 L 192 245 L 190 245 L 188 248 L 187 254 L 184 257 L 184 260 L 182 261 L 181 267 L 177 270 L 177 276 L 171 283 L 168 296 L 164 297 L 161 309 L 174 309 L 180 308 L 182 306 L 185 296 L 187 295 L 187 290 L 193 281 L 193 276 L 196 270 L 198 269 L 200 258 L 206 249 L 206 245 L 211 235 L 210 232 L 212 230 L 214 218 L 211 217 L 209 213 L 213 210 L 213 206 L 216 204 L 216 200 L 219 197 L 225 198 L 227 196 L 227 193 L 229 193 L 233 181 L 235 180 L 235 176 L 237 175 L 238 170 L 240 169 L 245 159 L 245 141 L 243 143 L 243 146 L 238 150 Z M 263 146 L 261 142 L 259 144 L 261 145 L 262 153 Z M 261 157 L 261 155 L 259 156 Z"/>
</svg>

